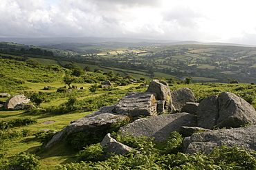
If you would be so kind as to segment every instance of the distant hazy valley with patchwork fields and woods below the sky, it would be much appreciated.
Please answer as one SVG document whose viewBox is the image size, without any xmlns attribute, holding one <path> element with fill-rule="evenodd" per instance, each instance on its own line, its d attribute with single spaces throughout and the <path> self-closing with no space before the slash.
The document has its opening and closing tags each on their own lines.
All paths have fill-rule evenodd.
<svg viewBox="0 0 256 170">
<path fill-rule="evenodd" d="M 230 80 L 241 83 L 256 82 L 256 47 L 186 43 L 191 44 L 148 43 L 146 46 L 134 46 L 132 43 L 101 42 L 53 43 L 39 47 L 1 43 L 0 55 L 3 58 L 23 61 L 35 59 L 39 63 L 62 67 L 75 62 L 87 71 L 112 70 L 115 74 L 129 74 L 137 79 L 143 76 L 147 80 L 158 77 L 179 81 L 189 77 L 194 83 L 229 83 Z M 118 46 L 122 44 L 127 46 Z M 31 49 L 48 53 L 26 52 L 33 51 Z"/>
</svg>

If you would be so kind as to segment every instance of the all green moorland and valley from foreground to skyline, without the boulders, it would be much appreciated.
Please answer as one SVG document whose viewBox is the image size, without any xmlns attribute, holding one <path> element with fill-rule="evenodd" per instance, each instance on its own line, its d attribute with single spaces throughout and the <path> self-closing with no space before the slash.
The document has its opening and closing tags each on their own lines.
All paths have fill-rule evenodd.
<svg viewBox="0 0 256 170">
<path fill-rule="evenodd" d="M 88 141 L 88 136 L 80 135 L 44 149 L 53 131 L 42 131 L 60 131 L 71 120 L 117 103 L 127 92 L 145 92 L 147 87 L 143 85 L 152 78 L 166 81 L 171 91 L 190 88 L 198 102 L 214 94 L 232 92 L 256 107 L 254 47 L 173 45 L 114 49 L 101 45 L 67 50 L 0 45 L 0 92 L 25 94 L 35 105 L 28 110 L 0 108 L 0 169 L 255 169 L 255 157 L 237 147 L 222 147 L 210 156 L 181 153 L 183 138 L 178 133 L 173 133 L 167 142 L 156 143 L 145 138 L 124 138 L 113 128 L 113 136 L 140 150 L 140 154 L 106 158 L 98 145 L 99 136 Z M 244 83 L 228 83 L 234 79 Z M 99 88 L 106 80 L 113 87 Z M 72 85 L 84 88 L 74 89 Z M 1 103 L 8 98 L 1 96 Z M 41 124 L 47 120 L 54 123 Z M 230 153 L 232 158 L 227 156 Z M 246 164 L 241 163 L 244 161 Z"/>
</svg>

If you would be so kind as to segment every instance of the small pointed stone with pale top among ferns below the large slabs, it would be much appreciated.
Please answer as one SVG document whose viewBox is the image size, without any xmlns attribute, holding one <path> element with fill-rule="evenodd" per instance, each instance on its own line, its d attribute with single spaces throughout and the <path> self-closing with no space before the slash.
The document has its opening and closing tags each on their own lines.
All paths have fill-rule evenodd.
<svg viewBox="0 0 256 170">
<path fill-rule="evenodd" d="M 131 147 L 128 147 L 127 145 L 123 145 L 120 142 L 117 142 L 114 138 L 111 138 L 110 134 L 107 134 L 102 142 L 100 142 L 100 145 L 102 147 L 106 147 L 104 151 L 107 153 L 115 153 L 117 155 L 122 155 L 129 153 L 129 151 L 133 150 Z"/>
</svg>

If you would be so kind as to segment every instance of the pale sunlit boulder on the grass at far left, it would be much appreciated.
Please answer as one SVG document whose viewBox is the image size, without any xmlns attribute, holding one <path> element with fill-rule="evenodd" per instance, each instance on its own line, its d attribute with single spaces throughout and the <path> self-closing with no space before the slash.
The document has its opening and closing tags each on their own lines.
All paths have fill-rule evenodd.
<svg viewBox="0 0 256 170">
<path fill-rule="evenodd" d="M 5 109 L 13 109 L 15 107 L 15 105 L 17 104 L 21 104 L 21 103 L 29 103 L 29 99 L 26 98 L 24 96 L 24 94 L 18 94 L 18 95 L 15 95 L 15 96 L 12 96 L 11 98 L 9 98 L 5 105 L 4 105 L 4 108 Z"/>
</svg>

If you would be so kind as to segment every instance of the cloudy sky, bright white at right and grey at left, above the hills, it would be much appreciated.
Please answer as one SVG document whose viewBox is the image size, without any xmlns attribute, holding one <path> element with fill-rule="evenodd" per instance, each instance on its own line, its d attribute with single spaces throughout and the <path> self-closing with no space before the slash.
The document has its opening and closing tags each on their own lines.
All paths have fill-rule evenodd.
<svg viewBox="0 0 256 170">
<path fill-rule="evenodd" d="M 0 37 L 130 37 L 256 45 L 255 8 L 255 0 L 1 0 Z"/>
</svg>

